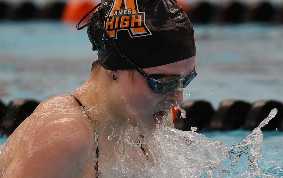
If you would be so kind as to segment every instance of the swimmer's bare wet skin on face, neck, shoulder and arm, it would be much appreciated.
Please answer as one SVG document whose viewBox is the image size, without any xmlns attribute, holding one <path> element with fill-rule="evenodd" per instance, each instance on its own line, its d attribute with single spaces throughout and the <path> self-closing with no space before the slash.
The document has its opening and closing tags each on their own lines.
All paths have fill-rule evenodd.
<svg viewBox="0 0 283 178">
<path fill-rule="evenodd" d="M 144 71 L 149 75 L 177 74 L 181 79 L 194 68 L 195 56 Z M 115 74 L 116 81 L 110 73 Z M 104 68 L 92 73 L 73 94 L 89 109 L 90 117 L 69 94 L 40 103 L 9 137 L 0 155 L 0 172 L 5 177 L 93 177 L 94 130 L 100 133 L 101 170 L 104 164 L 115 161 L 111 145 L 116 140 L 108 140 L 111 127 L 124 133 L 130 124 L 138 126 L 145 137 L 150 136 L 156 125 L 153 113 L 170 109 L 171 104 L 183 99 L 183 92 L 154 93 L 138 72 L 133 82 L 126 70 Z M 129 154 L 140 155 L 141 150 L 137 152 Z"/>
</svg>

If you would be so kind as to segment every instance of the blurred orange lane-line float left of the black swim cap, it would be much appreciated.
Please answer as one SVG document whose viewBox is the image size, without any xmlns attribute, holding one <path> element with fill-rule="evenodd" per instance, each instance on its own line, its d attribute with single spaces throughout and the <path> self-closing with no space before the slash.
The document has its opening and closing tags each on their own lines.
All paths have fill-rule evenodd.
<svg viewBox="0 0 283 178">
<path fill-rule="evenodd" d="M 65 22 L 78 22 L 86 13 L 95 7 L 96 4 L 98 3 L 94 1 L 69 1 L 62 12 L 61 19 Z M 91 14 L 85 19 L 88 19 L 90 16 Z"/>
</svg>

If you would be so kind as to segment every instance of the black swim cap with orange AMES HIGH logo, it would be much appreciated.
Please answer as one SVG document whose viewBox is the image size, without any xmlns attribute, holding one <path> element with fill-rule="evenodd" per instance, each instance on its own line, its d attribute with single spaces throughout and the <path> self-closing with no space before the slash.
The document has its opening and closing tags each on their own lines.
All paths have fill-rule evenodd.
<svg viewBox="0 0 283 178">
<path fill-rule="evenodd" d="M 108 70 L 134 69 L 123 55 L 139 68 L 195 55 L 192 24 L 176 0 L 101 0 L 87 28 L 98 63 Z"/>
</svg>

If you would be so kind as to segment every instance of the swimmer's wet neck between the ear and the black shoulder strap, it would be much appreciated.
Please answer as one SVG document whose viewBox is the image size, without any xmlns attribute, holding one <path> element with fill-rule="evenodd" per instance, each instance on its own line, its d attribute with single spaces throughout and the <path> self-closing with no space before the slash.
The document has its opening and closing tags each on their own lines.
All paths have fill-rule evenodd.
<svg viewBox="0 0 283 178">
<path fill-rule="evenodd" d="M 123 130 L 126 123 L 119 122 L 118 114 L 113 110 L 111 104 L 111 81 L 105 70 L 92 73 L 87 81 L 78 87 L 72 94 L 81 102 L 84 110 L 93 121 L 92 128 L 97 132 L 111 135 L 111 127 Z M 117 132 L 119 132 L 117 130 Z"/>
</svg>

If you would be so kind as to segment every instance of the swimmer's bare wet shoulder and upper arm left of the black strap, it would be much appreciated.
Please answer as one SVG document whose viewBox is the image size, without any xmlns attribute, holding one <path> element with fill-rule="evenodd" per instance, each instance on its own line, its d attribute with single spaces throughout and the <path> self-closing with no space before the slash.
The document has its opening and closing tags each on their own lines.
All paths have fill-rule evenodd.
<svg viewBox="0 0 283 178">
<path fill-rule="evenodd" d="M 10 146 L 16 150 L 9 177 L 74 177 L 85 169 L 93 131 L 74 98 L 58 95 L 40 103 L 11 135 Z"/>
</svg>

